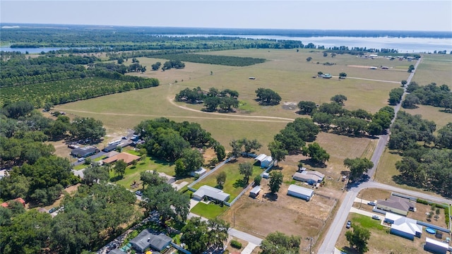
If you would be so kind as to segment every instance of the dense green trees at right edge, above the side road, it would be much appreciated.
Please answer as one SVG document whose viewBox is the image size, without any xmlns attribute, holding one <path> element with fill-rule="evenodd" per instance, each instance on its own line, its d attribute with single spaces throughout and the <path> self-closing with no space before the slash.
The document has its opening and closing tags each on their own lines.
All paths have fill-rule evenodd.
<svg viewBox="0 0 452 254">
<path fill-rule="evenodd" d="M 412 116 L 404 111 L 398 113 L 391 128 L 388 147 L 399 150 L 403 159 L 396 162 L 400 176 L 396 181 L 417 188 L 426 188 L 446 197 L 452 196 L 452 123 L 434 135 L 436 124 Z M 420 145 L 423 142 L 424 145 Z M 434 146 L 431 144 L 434 143 Z"/>
</svg>

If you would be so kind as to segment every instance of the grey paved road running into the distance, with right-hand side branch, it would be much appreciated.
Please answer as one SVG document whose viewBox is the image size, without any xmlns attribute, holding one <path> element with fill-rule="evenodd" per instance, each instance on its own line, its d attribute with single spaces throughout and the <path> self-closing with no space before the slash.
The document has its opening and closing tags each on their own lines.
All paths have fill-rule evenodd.
<svg viewBox="0 0 452 254">
<path fill-rule="evenodd" d="M 422 61 L 422 59 L 420 59 L 419 61 L 416 62 L 415 70 L 417 69 L 417 66 L 419 65 L 419 63 L 421 61 Z M 415 72 L 411 73 L 410 76 L 408 77 L 408 80 L 407 80 L 408 84 L 411 82 L 411 79 L 414 74 L 415 74 Z M 405 95 L 406 95 L 406 87 L 404 87 L 404 93 L 403 93 L 402 98 L 405 98 Z M 399 103 L 394 109 L 394 111 L 396 112 L 396 116 L 400 109 L 400 106 L 401 106 L 401 104 Z M 394 117 L 394 119 L 396 119 L 396 117 Z M 391 125 L 392 125 L 392 123 L 391 123 Z M 359 191 L 361 191 L 364 188 L 383 188 L 388 191 L 405 193 L 407 195 L 412 195 L 417 198 L 422 198 L 424 200 L 431 200 L 434 202 L 441 202 L 441 203 L 451 203 L 452 202 L 452 200 L 448 200 L 446 198 L 438 198 L 433 195 L 419 193 L 417 191 L 408 191 L 403 188 L 398 188 L 396 186 L 388 186 L 383 183 L 374 182 L 373 177 L 374 177 L 374 174 L 376 171 L 376 167 L 378 166 L 380 157 L 383 154 L 383 151 L 386 147 L 388 138 L 389 138 L 389 134 L 379 136 L 379 142 L 376 145 L 376 148 L 374 150 L 374 155 L 372 155 L 372 157 L 371 157 L 371 161 L 374 162 L 374 167 L 367 172 L 367 176 L 368 176 L 367 181 L 349 185 L 349 190 L 347 191 L 347 195 L 345 195 L 345 198 L 344 198 L 342 204 L 340 204 L 339 210 L 338 210 L 336 216 L 334 217 L 330 228 L 328 229 L 328 233 L 326 234 L 325 240 L 323 240 L 323 243 L 320 246 L 318 253 L 320 253 L 320 254 L 333 253 L 335 251 L 335 243 L 336 243 L 336 241 L 338 241 L 340 231 L 342 231 L 345 221 L 347 220 L 347 216 L 348 216 L 348 213 L 350 212 L 350 208 L 352 207 L 353 202 L 355 201 L 355 198 L 357 197 L 357 194 L 359 193 Z"/>
</svg>

